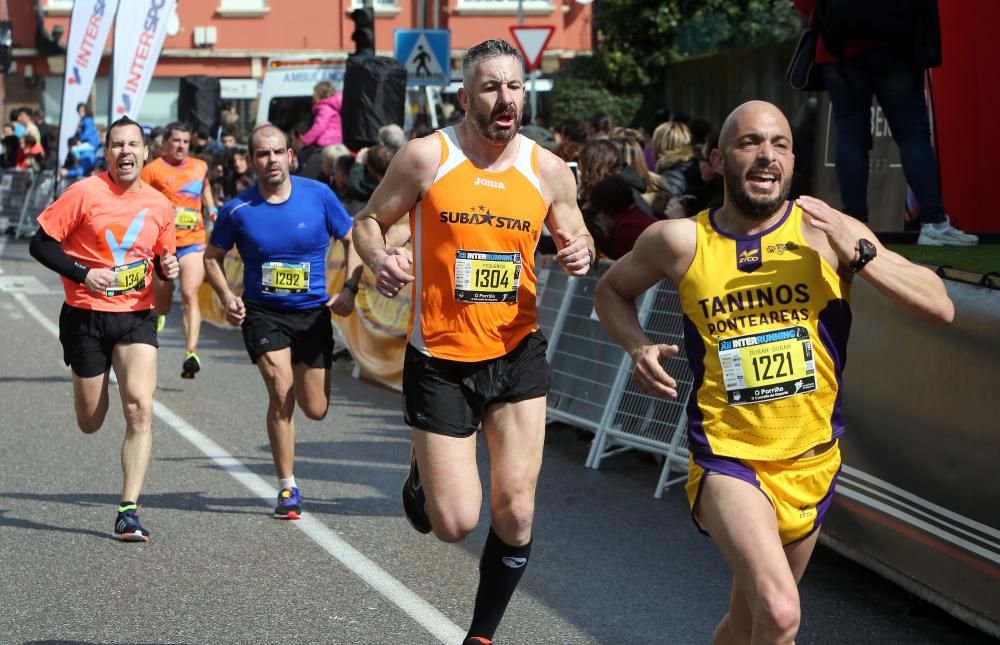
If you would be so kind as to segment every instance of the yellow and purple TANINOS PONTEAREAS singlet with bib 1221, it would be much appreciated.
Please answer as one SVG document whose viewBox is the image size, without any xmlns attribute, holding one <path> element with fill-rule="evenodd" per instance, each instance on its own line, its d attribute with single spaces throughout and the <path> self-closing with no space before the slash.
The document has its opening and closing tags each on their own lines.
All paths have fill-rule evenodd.
<svg viewBox="0 0 1000 645">
<path fill-rule="evenodd" d="M 679 285 L 692 453 L 787 459 L 840 436 L 850 284 L 806 244 L 801 209 L 789 203 L 748 237 L 720 231 L 710 211 L 695 219 Z"/>
</svg>

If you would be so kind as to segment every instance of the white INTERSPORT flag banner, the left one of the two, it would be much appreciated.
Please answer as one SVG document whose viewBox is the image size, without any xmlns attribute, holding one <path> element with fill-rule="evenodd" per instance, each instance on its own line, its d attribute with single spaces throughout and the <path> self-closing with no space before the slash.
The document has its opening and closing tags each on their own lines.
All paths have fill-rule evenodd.
<svg viewBox="0 0 1000 645">
<path fill-rule="evenodd" d="M 76 0 L 66 43 L 66 77 L 63 79 L 62 112 L 59 115 L 59 165 L 66 162 L 69 138 L 76 134 L 80 115 L 76 106 L 86 103 L 104 55 L 111 21 L 118 0 Z"/>
</svg>

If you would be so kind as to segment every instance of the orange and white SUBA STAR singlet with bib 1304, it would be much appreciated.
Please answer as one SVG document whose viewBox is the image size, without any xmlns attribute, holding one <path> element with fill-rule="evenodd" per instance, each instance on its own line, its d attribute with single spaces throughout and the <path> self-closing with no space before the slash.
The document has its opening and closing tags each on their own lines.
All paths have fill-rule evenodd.
<svg viewBox="0 0 1000 645">
<path fill-rule="evenodd" d="M 491 172 L 469 161 L 454 128 L 436 134 L 438 171 L 410 212 L 409 341 L 435 358 L 497 358 L 537 329 L 534 254 L 549 210 L 538 147 L 517 135 L 514 163 Z"/>
</svg>

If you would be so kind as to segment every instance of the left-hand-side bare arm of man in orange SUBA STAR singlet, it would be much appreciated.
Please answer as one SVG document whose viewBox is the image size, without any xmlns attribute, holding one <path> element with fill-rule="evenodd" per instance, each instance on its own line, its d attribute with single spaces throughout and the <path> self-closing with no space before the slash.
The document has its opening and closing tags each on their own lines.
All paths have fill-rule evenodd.
<svg viewBox="0 0 1000 645">
<path fill-rule="evenodd" d="M 384 296 L 395 296 L 413 281 L 409 261 L 401 249 L 386 247 L 385 234 L 430 187 L 440 159 L 441 142 L 436 136 L 407 143 L 389 164 L 368 205 L 354 218 L 355 248 L 375 274 Z"/>
</svg>

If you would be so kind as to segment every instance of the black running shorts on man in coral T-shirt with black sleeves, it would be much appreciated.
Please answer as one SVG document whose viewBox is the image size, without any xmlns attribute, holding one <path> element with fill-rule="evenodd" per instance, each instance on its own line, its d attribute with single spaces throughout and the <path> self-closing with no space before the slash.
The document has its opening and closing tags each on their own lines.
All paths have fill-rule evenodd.
<svg viewBox="0 0 1000 645">
<path fill-rule="evenodd" d="M 143 343 L 159 347 L 156 314 L 146 311 L 94 311 L 63 303 L 59 312 L 63 361 L 83 378 L 111 369 L 115 345 Z"/>
</svg>

